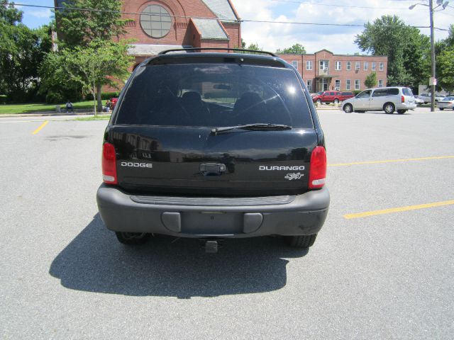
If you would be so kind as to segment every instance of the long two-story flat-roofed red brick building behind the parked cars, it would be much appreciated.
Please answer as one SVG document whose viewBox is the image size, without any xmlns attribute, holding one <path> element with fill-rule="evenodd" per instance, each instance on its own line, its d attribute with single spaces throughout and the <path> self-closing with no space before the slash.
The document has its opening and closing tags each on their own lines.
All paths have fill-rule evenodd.
<svg viewBox="0 0 454 340">
<path fill-rule="evenodd" d="M 388 57 L 370 55 L 334 55 L 321 50 L 312 55 L 279 55 L 293 64 L 309 91 L 353 91 L 366 88 L 368 74 L 377 72 L 377 86 L 386 86 Z"/>
</svg>

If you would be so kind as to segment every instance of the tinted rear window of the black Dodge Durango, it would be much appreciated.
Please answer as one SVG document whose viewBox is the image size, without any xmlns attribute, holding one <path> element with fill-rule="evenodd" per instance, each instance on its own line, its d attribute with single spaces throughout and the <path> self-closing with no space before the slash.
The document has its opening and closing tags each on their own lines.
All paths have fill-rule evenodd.
<svg viewBox="0 0 454 340">
<path fill-rule="evenodd" d="M 250 123 L 313 128 L 292 69 L 238 64 L 141 67 L 116 124 L 222 127 Z"/>
</svg>

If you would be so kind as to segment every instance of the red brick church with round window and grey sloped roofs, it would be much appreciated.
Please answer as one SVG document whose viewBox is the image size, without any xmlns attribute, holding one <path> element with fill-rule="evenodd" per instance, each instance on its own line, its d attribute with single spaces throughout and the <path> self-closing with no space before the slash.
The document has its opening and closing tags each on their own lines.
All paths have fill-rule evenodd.
<svg viewBox="0 0 454 340">
<path fill-rule="evenodd" d="M 55 0 L 55 6 L 70 0 Z M 230 0 L 123 0 L 135 64 L 162 50 L 241 46 L 238 14 Z"/>
</svg>

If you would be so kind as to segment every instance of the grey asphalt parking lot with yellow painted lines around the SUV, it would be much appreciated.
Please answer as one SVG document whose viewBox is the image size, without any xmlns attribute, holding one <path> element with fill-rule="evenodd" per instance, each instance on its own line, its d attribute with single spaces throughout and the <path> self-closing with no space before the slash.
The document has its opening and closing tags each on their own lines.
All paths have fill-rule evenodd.
<svg viewBox="0 0 454 340">
<path fill-rule="evenodd" d="M 1 118 L 1 339 L 452 339 L 454 112 L 319 116 L 331 208 L 314 246 L 218 254 L 104 228 L 106 120 Z"/>
</svg>

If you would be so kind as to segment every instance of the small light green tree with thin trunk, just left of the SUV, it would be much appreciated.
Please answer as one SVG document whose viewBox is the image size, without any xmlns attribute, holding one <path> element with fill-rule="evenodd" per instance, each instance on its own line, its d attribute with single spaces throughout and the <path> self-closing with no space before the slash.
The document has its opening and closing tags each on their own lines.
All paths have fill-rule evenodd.
<svg viewBox="0 0 454 340">
<path fill-rule="evenodd" d="M 114 85 L 118 80 L 126 80 L 129 75 L 131 56 L 128 55 L 126 42 L 112 42 L 100 39 L 92 40 L 87 46 L 78 46 L 74 50 L 62 50 L 60 60 L 56 61 L 62 67 L 70 81 L 82 86 L 84 94 L 94 98 L 94 112 L 101 101 L 101 87 Z M 109 74 L 109 77 L 106 77 Z"/>
</svg>

